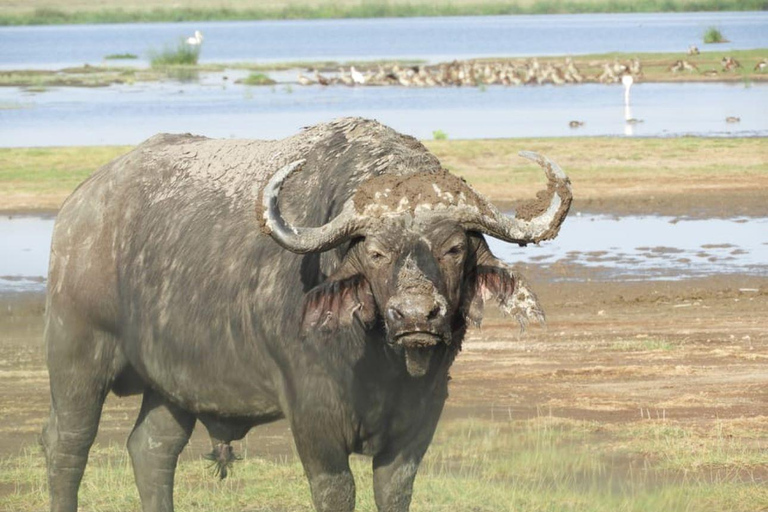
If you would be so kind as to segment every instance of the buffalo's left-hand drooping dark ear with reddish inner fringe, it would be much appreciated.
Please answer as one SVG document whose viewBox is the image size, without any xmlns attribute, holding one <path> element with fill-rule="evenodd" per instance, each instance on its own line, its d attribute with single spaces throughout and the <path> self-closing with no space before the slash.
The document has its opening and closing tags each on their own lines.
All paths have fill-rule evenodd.
<svg viewBox="0 0 768 512">
<path fill-rule="evenodd" d="M 331 280 L 307 292 L 304 298 L 302 331 L 335 331 L 376 319 L 376 303 L 368 281 L 361 275 Z"/>
</svg>

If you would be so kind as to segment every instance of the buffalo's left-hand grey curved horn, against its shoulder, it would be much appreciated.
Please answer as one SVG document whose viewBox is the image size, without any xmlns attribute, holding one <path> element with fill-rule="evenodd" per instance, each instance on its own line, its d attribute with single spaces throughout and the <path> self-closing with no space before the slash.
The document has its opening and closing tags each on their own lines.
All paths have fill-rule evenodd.
<svg viewBox="0 0 768 512">
<path fill-rule="evenodd" d="M 299 254 L 332 249 L 355 236 L 364 226 L 352 201 L 344 205 L 336 218 L 320 227 L 297 227 L 283 218 L 278 201 L 280 190 L 288 176 L 301 170 L 305 162 L 297 160 L 277 171 L 264 187 L 261 204 L 264 232 L 289 251 Z"/>
</svg>

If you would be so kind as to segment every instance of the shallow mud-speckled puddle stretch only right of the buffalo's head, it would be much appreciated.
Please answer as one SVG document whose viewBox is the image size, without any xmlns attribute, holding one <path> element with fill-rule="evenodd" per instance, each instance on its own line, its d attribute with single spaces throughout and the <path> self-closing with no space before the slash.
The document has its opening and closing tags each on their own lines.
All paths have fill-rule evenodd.
<svg viewBox="0 0 768 512">
<path fill-rule="evenodd" d="M 768 275 L 768 218 L 681 219 L 571 215 L 552 242 L 519 248 L 489 240 L 510 262 L 562 267 L 562 280 L 675 280 Z"/>
</svg>

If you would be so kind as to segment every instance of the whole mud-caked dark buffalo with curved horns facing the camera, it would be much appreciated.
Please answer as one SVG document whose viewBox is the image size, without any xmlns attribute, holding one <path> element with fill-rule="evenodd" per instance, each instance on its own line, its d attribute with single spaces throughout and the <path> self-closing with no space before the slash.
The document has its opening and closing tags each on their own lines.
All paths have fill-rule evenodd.
<svg viewBox="0 0 768 512">
<path fill-rule="evenodd" d="M 485 302 L 540 319 L 482 234 L 556 236 L 568 179 L 504 216 L 424 146 L 341 119 L 281 141 L 159 135 L 62 207 L 48 281 L 51 510 L 77 492 L 106 395 L 143 394 L 128 439 L 145 511 L 173 509 L 197 421 L 229 443 L 287 418 L 317 510 L 355 505 L 351 453 L 373 457 L 379 510 L 408 510 Z"/>
</svg>

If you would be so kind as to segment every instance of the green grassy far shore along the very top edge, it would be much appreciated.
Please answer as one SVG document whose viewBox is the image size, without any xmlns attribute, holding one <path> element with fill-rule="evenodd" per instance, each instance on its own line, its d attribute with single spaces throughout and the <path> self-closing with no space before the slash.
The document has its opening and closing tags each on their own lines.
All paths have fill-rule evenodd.
<svg viewBox="0 0 768 512">
<path fill-rule="evenodd" d="M 159 1 L 12 2 L 0 13 L 0 25 L 68 23 L 129 23 L 161 21 L 276 20 L 327 18 L 382 18 L 412 16 L 491 16 L 505 14 L 573 14 L 612 12 L 751 11 L 768 8 L 765 0 L 506 0 L 480 2 L 274 1 L 253 7 L 252 2 L 187 1 L 167 7 Z"/>
</svg>

